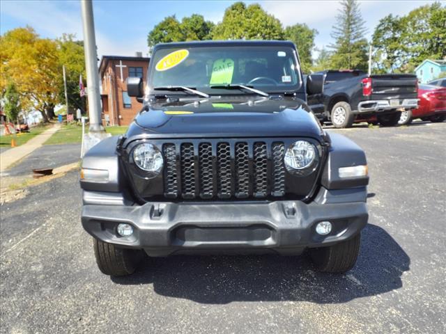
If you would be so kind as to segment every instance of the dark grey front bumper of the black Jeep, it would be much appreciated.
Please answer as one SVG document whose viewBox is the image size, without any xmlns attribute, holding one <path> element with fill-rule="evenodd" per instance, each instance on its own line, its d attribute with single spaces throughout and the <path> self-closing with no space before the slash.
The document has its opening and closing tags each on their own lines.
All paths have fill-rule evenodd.
<svg viewBox="0 0 446 334">
<path fill-rule="evenodd" d="M 174 253 L 298 254 L 307 247 L 330 246 L 349 239 L 367 224 L 364 201 L 328 202 L 325 198 L 309 204 L 278 200 L 84 205 L 82 225 L 101 241 L 127 248 L 144 248 L 151 256 Z M 327 236 L 316 233 L 316 224 L 320 221 L 330 221 L 333 225 Z M 132 236 L 119 237 L 116 233 L 118 223 L 130 223 L 134 228 Z"/>
</svg>

